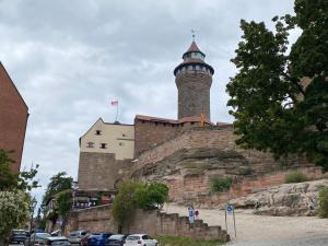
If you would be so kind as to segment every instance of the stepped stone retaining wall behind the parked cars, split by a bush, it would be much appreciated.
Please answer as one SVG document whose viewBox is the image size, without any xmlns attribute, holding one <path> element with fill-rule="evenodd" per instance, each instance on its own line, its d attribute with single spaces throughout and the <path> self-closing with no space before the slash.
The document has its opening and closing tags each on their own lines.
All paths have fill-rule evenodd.
<svg viewBox="0 0 328 246">
<path fill-rule="evenodd" d="M 117 225 L 110 215 L 110 207 L 102 206 L 71 212 L 66 227 L 70 231 L 86 229 L 91 232 L 117 232 Z M 230 236 L 221 226 L 208 226 L 202 220 L 196 220 L 195 225 L 189 224 L 187 216 L 161 213 L 157 210 L 138 210 L 129 227 L 124 233 L 148 233 L 152 236 L 172 235 L 189 236 L 202 239 L 230 241 Z"/>
</svg>

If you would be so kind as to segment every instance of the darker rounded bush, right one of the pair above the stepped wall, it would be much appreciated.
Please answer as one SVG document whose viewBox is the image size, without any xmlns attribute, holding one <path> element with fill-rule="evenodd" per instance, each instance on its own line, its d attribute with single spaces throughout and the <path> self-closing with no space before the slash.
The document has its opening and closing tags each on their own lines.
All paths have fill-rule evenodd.
<svg viewBox="0 0 328 246">
<path fill-rule="evenodd" d="M 145 184 L 137 189 L 136 196 L 140 209 L 155 209 L 167 201 L 168 187 L 161 183 Z"/>
</svg>

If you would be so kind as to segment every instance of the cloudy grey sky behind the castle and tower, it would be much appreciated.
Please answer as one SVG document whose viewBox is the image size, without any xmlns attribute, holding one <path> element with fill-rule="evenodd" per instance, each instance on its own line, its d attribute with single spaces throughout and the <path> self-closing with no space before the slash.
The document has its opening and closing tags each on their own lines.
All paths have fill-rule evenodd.
<svg viewBox="0 0 328 246">
<path fill-rule="evenodd" d="M 79 138 L 99 118 L 176 118 L 174 68 L 191 44 L 215 73 L 212 121 L 232 122 L 225 85 L 241 19 L 293 13 L 292 0 L 0 0 L 0 60 L 26 104 L 22 169 L 39 164 L 39 200 L 49 177 L 77 179 Z M 293 36 L 291 37 L 293 38 Z"/>
</svg>

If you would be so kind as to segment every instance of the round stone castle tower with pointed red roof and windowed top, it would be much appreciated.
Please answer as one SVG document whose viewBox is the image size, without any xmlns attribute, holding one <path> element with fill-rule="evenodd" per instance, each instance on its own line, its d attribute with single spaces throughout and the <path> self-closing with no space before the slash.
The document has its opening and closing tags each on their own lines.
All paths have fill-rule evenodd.
<svg viewBox="0 0 328 246">
<path fill-rule="evenodd" d="M 174 69 L 178 90 L 178 119 L 203 115 L 211 120 L 210 89 L 214 69 L 204 62 L 206 55 L 195 40 L 184 54 L 184 61 Z"/>
</svg>

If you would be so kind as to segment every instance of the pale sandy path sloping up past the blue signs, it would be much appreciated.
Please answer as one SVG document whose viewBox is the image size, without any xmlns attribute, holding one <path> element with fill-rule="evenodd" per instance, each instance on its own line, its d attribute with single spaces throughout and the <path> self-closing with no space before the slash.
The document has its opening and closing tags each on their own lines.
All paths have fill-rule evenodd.
<svg viewBox="0 0 328 246">
<path fill-rule="evenodd" d="M 225 229 L 224 211 L 198 209 L 199 219 Z M 166 204 L 164 212 L 187 215 L 187 208 Z M 328 246 L 328 219 L 315 216 L 265 216 L 251 210 L 236 211 L 236 235 L 233 216 L 227 215 L 229 246 Z"/>
</svg>

